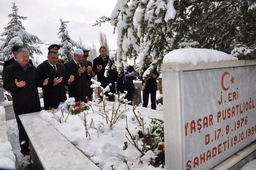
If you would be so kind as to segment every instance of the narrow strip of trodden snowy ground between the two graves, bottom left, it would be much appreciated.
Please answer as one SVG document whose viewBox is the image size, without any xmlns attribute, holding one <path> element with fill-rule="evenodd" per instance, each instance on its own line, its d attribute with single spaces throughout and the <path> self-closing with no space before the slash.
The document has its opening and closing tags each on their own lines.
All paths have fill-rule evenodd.
<svg viewBox="0 0 256 170">
<path fill-rule="evenodd" d="M 6 124 L 7 124 L 7 131 L 10 134 L 10 143 L 12 144 L 12 152 L 17 156 L 19 168 L 20 170 L 29 170 L 30 156 L 24 157 L 22 153 L 20 153 L 19 133 L 18 133 L 18 125 L 17 125 L 16 119 L 7 120 Z"/>
</svg>

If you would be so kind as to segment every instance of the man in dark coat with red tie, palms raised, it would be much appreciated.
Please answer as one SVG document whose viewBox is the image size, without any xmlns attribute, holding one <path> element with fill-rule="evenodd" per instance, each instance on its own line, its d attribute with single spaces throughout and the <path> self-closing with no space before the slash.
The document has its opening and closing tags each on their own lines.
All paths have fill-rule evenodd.
<svg viewBox="0 0 256 170">
<path fill-rule="evenodd" d="M 48 80 L 48 85 L 42 88 L 44 96 L 44 109 L 58 108 L 60 102 L 67 100 L 65 85 L 74 81 L 74 76 L 66 74 L 65 67 L 58 63 L 59 54 L 57 50 L 48 51 L 48 60 L 37 66 L 40 79 Z"/>
</svg>

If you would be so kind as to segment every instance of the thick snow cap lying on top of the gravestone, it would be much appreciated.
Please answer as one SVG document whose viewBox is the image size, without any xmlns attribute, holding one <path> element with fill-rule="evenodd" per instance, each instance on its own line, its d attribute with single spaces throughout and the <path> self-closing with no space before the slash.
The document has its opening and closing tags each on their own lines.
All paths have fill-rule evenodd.
<svg viewBox="0 0 256 170">
<path fill-rule="evenodd" d="M 238 60 L 238 58 L 226 54 L 225 52 L 200 49 L 200 48 L 182 48 L 169 52 L 164 56 L 163 63 L 178 62 L 180 64 L 192 63 L 194 66 L 200 62 L 219 62 L 226 60 Z"/>
</svg>

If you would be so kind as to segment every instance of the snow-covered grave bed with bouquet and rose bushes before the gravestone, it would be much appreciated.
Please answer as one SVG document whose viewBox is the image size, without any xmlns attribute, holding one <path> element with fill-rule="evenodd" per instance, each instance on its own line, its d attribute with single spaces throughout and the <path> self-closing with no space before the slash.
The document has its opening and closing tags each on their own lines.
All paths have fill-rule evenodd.
<svg viewBox="0 0 256 170">
<path fill-rule="evenodd" d="M 116 98 L 116 102 L 97 100 L 88 104 L 70 98 L 58 110 L 42 110 L 40 117 L 34 118 L 31 117 L 33 114 L 25 114 L 20 119 L 29 138 L 36 136 L 36 131 L 45 129 L 43 122 L 50 123 L 102 170 L 164 168 L 164 129 L 160 120 L 163 112 L 133 108 L 123 97 Z M 35 132 L 31 134 L 29 131 L 33 129 Z M 49 136 L 38 134 L 37 139 L 30 139 L 32 145 L 42 138 L 49 142 L 55 140 L 55 136 L 48 133 Z M 51 148 L 45 146 L 43 150 L 54 150 L 55 146 L 48 147 Z"/>
</svg>

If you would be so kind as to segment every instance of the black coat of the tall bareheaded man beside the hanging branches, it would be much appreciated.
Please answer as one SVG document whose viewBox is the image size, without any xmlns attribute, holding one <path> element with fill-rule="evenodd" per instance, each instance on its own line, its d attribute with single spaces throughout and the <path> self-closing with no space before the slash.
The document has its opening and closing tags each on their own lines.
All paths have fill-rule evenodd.
<svg viewBox="0 0 256 170">
<path fill-rule="evenodd" d="M 108 72 L 108 76 L 105 77 L 104 73 L 105 73 L 105 67 L 108 64 L 108 60 L 109 60 L 109 56 L 106 56 L 106 62 L 104 62 L 104 60 L 102 59 L 101 56 L 98 56 L 97 58 L 94 58 L 93 60 L 93 69 L 95 71 L 95 74 L 97 75 L 97 80 L 98 82 L 101 83 L 101 86 L 103 88 L 105 88 L 106 86 L 108 86 L 108 84 L 112 84 L 110 87 L 110 91 L 113 94 L 116 93 L 116 86 L 115 86 L 115 82 L 117 80 L 117 71 L 116 70 L 112 70 L 112 66 L 110 66 L 110 70 Z M 102 69 L 98 72 L 97 70 L 97 66 L 102 65 Z"/>
</svg>

